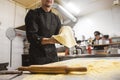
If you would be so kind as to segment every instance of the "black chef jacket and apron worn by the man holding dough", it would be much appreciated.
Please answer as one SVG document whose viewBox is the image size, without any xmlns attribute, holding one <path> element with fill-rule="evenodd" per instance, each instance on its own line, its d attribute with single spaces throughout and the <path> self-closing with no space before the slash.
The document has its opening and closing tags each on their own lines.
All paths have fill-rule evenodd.
<svg viewBox="0 0 120 80">
<path fill-rule="evenodd" d="M 61 22 L 54 13 L 45 12 L 42 8 L 30 10 L 25 18 L 26 35 L 30 42 L 30 65 L 46 64 L 58 61 L 54 44 L 42 45 L 42 38 L 57 35 Z"/>
</svg>

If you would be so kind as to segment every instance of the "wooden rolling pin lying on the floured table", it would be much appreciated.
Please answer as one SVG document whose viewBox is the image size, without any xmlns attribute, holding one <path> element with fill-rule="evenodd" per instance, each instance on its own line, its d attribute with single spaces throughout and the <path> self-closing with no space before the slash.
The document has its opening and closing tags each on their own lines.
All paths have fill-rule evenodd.
<svg viewBox="0 0 120 80">
<path fill-rule="evenodd" d="M 30 71 L 31 73 L 66 74 L 69 72 L 86 72 L 87 68 L 86 67 L 31 65 L 29 67 L 19 67 L 18 70 Z"/>
</svg>

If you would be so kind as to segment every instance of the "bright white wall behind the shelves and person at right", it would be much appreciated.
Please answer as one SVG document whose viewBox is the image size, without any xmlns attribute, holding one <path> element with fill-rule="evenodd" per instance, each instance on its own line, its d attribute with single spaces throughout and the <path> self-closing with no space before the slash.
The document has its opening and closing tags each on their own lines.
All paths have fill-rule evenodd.
<svg viewBox="0 0 120 80">
<path fill-rule="evenodd" d="M 74 30 L 78 40 L 82 39 L 82 35 L 86 39 L 94 37 L 96 30 L 111 37 L 120 36 L 120 5 L 82 16 Z"/>
</svg>

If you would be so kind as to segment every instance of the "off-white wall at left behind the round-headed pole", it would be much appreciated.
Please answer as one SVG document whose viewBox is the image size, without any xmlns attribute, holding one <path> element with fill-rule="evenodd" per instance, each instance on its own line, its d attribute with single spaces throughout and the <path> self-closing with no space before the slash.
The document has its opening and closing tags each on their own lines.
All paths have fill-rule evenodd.
<svg viewBox="0 0 120 80">
<path fill-rule="evenodd" d="M 0 63 L 10 61 L 10 40 L 6 37 L 6 30 L 9 27 L 15 28 L 24 25 L 25 14 L 26 10 L 24 8 L 18 5 L 15 8 L 15 3 L 9 0 L 0 0 Z M 12 69 L 16 69 L 21 65 L 21 54 L 23 53 L 22 41 L 23 38 L 18 36 L 12 41 Z"/>
</svg>

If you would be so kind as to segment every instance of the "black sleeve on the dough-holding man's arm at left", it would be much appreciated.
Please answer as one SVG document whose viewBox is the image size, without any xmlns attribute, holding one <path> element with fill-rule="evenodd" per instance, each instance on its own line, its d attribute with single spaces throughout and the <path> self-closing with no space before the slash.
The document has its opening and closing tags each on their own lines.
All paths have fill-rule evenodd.
<svg viewBox="0 0 120 80">
<path fill-rule="evenodd" d="M 25 17 L 26 35 L 28 41 L 33 45 L 41 45 L 43 36 L 38 35 L 38 24 L 35 20 L 36 13 L 30 10 Z"/>
</svg>

